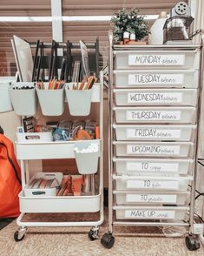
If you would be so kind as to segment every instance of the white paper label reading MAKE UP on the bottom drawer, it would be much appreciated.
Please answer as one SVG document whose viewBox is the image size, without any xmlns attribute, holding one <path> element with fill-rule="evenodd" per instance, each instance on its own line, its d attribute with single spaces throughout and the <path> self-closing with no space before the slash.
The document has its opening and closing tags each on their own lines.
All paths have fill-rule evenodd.
<svg viewBox="0 0 204 256">
<path fill-rule="evenodd" d="M 175 211 L 159 211 L 159 210 L 126 210 L 125 218 L 133 219 L 174 219 Z"/>
</svg>

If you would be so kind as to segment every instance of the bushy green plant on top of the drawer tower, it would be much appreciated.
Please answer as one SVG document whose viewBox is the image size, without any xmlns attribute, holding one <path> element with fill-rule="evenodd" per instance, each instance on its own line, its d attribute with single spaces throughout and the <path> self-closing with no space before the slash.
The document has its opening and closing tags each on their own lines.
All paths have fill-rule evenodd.
<svg viewBox="0 0 204 256">
<path fill-rule="evenodd" d="M 138 13 L 139 10 L 135 8 L 131 9 L 129 13 L 128 10 L 123 8 L 111 18 L 115 42 L 123 41 L 124 32 L 135 34 L 135 41 L 140 41 L 142 38 L 148 36 L 148 22 L 144 19 L 144 16 L 139 16 Z"/>
</svg>

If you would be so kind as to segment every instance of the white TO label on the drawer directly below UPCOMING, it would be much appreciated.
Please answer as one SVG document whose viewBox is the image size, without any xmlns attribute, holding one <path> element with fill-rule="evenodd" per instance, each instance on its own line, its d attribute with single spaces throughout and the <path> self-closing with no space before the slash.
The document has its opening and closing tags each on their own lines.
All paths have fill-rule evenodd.
<svg viewBox="0 0 204 256">
<path fill-rule="evenodd" d="M 128 162 L 127 171 L 133 172 L 178 172 L 178 163 L 160 163 L 160 162 Z"/>
</svg>

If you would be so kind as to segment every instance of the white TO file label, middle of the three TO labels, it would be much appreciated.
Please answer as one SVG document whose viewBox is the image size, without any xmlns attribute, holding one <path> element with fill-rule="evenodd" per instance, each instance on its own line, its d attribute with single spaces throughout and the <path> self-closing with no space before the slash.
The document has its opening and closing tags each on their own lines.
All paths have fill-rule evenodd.
<svg viewBox="0 0 204 256">
<path fill-rule="evenodd" d="M 145 188 L 145 189 L 179 189 L 178 180 L 151 180 L 151 179 L 128 179 L 127 188 Z"/>
</svg>

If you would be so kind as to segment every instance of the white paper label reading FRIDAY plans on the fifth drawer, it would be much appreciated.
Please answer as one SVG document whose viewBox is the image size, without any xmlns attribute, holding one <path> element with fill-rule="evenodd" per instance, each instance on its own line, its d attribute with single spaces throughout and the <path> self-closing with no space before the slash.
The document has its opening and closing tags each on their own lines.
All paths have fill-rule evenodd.
<svg viewBox="0 0 204 256">
<path fill-rule="evenodd" d="M 179 129 L 154 129 L 154 128 L 135 128 L 126 130 L 126 138 L 180 138 L 181 130 Z"/>
</svg>

